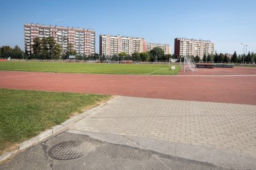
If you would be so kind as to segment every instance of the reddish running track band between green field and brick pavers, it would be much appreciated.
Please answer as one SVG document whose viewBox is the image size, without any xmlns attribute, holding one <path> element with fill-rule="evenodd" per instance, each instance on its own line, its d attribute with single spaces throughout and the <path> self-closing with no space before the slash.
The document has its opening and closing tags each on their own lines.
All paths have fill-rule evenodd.
<svg viewBox="0 0 256 170">
<path fill-rule="evenodd" d="M 256 76 L 139 76 L 0 72 L 0 88 L 256 105 Z"/>
</svg>

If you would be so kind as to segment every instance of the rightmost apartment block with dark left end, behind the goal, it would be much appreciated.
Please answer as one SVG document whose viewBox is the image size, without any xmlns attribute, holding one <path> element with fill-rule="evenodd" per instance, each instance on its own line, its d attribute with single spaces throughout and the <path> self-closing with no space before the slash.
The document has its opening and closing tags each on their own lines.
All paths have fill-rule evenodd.
<svg viewBox="0 0 256 170">
<path fill-rule="evenodd" d="M 174 40 L 174 55 L 196 56 L 201 59 L 204 54 L 214 54 L 214 43 L 207 40 L 178 39 Z"/>
</svg>

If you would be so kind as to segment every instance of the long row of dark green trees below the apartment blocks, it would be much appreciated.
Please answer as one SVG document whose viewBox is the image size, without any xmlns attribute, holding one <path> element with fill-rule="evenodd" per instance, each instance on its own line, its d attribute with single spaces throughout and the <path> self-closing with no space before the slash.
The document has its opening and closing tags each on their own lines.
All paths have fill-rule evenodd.
<svg viewBox="0 0 256 170">
<path fill-rule="evenodd" d="M 74 50 L 74 46 L 72 44 L 68 44 L 68 51 L 61 56 L 61 46 L 58 45 L 58 43 L 55 42 L 53 37 L 44 37 L 42 39 L 36 38 L 34 39 L 33 44 L 33 53 L 31 56 L 28 55 L 27 51 L 22 51 L 18 45 L 14 46 L 14 48 L 10 46 L 1 46 L 0 47 L 0 58 L 4 57 L 11 57 L 16 59 L 68 59 L 68 56 L 74 55 L 76 56 L 76 59 L 79 60 L 112 60 L 112 61 L 120 61 L 122 59 L 128 59 L 133 61 L 142 61 L 142 62 L 153 62 L 153 61 L 169 61 L 170 58 L 176 58 L 176 59 L 183 59 L 180 56 L 177 55 L 171 55 L 171 54 L 165 54 L 165 51 L 163 51 L 159 47 L 153 48 L 153 50 L 150 50 L 149 52 L 135 52 L 131 56 L 126 54 L 125 52 L 122 52 L 118 55 L 112 55 L 112 56 L 99 56 L 99 54 L 91 54 L 90 56 L 85 56 L 82 54 L 77 54 L 76 50 Z M 232 63 L 241 63 L 241 62 L 256 62 L 256 53 L 249 53 L 237 55 L 236 51 L 234 54 L 230 57 L 227 56 L 227 54 L 215 54 L 215 55 L 206 55 L 204 54 L 203 59 L 200 59 L 199 56 L 193 56 L 195 62 L 232 62 Z"/>
</svg>

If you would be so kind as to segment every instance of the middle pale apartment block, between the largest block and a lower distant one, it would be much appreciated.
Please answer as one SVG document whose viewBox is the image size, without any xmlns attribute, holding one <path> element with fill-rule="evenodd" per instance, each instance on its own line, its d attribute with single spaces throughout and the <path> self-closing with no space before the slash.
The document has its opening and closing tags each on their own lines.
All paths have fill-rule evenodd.
<svg viewBox="0 0 256 170">
<path fill-rule="evenodd" d="M 99 35 L 99 55 L 114 55 L 121 52 L 131 55 L 136 51 L 146 51 L 145 39 L 120 35 Z"/>
</svg>

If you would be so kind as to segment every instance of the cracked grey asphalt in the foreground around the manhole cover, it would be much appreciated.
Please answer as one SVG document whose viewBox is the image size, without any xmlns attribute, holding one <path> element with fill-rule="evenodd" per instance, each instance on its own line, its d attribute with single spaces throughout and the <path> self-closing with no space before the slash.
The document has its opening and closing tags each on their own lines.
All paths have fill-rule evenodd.
<svg viewBox="0 0 256 170">
<path fill-rule="evenodd" d="M 77 150 L 83 155 L 72 160 L 65 158 L 68 151 L 58 147 L 58 151 L 49 156 L 49 150 L 64 141 L 80 141 Z M 69 150 L 70 151 L 70 150 Z M 136 147 L 111 144 L 68 132 L 30 147 L 25 152 L 0 165 L 0 169 L 225 169 L 210 163 L 187 160 L 163 153 Z"/>
</svg>

